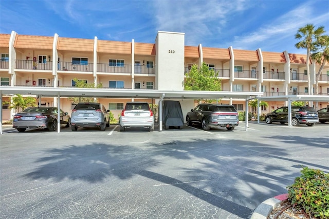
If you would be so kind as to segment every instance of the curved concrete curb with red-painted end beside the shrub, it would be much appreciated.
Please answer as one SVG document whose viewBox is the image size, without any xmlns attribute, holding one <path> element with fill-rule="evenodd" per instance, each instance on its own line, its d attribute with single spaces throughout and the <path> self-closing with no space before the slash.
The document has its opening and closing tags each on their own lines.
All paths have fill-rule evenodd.
<svg viewBox="0 0 329 219">
<path fill-rule="evenodd" d="M 250 219 L 266 219 L 273 209 L 288 199 L 288 194 L 277 195 L 262 202 L 252 213 Z"/>
</svg>

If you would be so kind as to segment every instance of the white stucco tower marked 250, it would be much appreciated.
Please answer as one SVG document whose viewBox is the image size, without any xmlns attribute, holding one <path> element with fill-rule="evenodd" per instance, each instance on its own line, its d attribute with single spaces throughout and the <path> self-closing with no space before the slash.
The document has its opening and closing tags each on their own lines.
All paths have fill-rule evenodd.
<svg viewBox="0 0 329 219">
<path fill-rule="evenodd" d="M 155 49 L 155 89 L 183 90 L 185 33 L 158 31 Z"/>
</svg>

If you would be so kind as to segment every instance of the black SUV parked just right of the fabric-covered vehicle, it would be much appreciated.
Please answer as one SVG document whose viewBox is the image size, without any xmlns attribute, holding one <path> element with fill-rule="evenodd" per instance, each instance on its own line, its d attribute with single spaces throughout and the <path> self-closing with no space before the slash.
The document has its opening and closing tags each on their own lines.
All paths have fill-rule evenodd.
<svg viewBox="0 0 329 219">
<path fill-rule="evenodd" d="M 186 115 L 186 124 L 201 124 L 203 130 L 211 127 L 226 127 L 234 130 L 239 125 L 239 116 L 232 105 L 202 103 L 197 105 Z"/>
</svg>

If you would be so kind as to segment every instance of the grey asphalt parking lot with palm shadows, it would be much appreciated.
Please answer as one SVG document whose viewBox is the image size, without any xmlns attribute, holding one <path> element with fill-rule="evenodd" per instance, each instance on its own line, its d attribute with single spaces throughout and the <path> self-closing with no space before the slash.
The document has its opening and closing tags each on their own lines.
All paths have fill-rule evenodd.
<svg viewBox="0 0 329 219">
<path fill-rule="evenodd" d="M 118 125 L 0 135 L 1 218 L 249 218 L 303 166 L 329 172 L 329 124 L 234 131 Z"/>
</svg>

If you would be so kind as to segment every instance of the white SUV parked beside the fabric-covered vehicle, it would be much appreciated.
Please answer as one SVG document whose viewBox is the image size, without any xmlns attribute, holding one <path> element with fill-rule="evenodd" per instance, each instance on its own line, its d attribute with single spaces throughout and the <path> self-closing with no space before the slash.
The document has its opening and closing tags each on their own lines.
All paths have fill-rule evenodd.
<svg viewBox="0 0 329 219">
<path fill-rule="evenodd" d="M 145 127 L 154 131 L 154 115 L 147 102 L 127 102 L 119 122 L 120 132 L 129 127 Z"/>
</svg>

